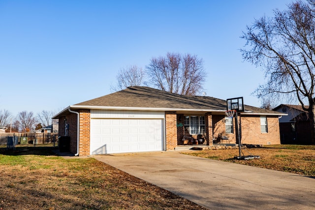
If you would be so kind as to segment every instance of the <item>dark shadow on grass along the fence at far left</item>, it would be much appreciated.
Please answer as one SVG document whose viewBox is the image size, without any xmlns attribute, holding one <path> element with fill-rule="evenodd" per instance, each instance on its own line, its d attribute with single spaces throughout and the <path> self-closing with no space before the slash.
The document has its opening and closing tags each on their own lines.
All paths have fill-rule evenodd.
<svg viewBox="0 0 315 210">
<path fill-rule="evenodd" d="M 7 148 L 0 148 L 0 154 L 3 155 L 43 155 L 43 156 L 50 156 L 50 155 L 57 155 L 53 150 L 58 150 L 56 147 L 16 147 L 15 150 L 7 149 Z"/>
</svg>

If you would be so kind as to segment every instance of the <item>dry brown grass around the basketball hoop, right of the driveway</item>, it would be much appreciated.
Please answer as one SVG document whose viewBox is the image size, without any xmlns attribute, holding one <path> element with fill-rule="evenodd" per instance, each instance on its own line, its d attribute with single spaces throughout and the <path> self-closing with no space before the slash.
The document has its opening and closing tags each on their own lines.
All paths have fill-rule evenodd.
<svg viewBox="0 0 315 210">
<path fill-rule="evenodd" d="M 234 156 L 239 156 L 238 149 L 200 150 L 183 153 L 215 160 L 315 177 L 314 145 L 272 145 L 265 146 L 263 148 L 247 148 L 243 151 L 245 155 L 249 155 L 248 152 L 250 152 L 252 155 L 259 155 L 260 158 L 252 160 L 235 160 Z"/>
</svg>

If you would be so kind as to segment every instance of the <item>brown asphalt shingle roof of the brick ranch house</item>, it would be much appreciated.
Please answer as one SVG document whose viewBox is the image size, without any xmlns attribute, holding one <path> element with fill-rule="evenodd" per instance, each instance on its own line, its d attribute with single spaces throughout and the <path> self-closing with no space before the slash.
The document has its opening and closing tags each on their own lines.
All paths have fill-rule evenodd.
<svg viewBox="0 0 315 210">
<path fill-rule="evenodd" d="M 143 107 L 193 110 L 226 110 L 226 100 L 209 96 L 188 96 L 157 90 L 149 87 L 133 86 L 125 90 L 104 95 L 92 100 L 74 104 L 75 106 L 102 107 Z M 278 112 L 245 105 L 246 111 L 277 114 Z M 279 113 L 280 114 L 280 113 Z"/>
</svg>

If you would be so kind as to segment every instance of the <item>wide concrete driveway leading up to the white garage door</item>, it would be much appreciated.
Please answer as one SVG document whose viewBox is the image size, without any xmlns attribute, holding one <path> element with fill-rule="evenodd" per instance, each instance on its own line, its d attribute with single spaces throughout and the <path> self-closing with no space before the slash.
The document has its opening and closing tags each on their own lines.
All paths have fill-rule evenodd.
<svg viewBox="0 0 315 210">
<path fill-rule="evenodd" d="M 91 155 L 208 209 L 315 209 L 315 178 L 181 154 Z"/>
</svg>

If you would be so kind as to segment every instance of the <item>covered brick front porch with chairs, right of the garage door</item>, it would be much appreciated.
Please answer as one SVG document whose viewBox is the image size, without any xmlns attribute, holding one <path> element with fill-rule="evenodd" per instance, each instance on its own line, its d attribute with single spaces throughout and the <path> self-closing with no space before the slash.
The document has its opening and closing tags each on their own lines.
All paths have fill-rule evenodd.
<svg viewBox="0 0 315 210">
<path fill-rule="evenodd" d="M 224 110 L 214 112 L 165 112 L 166 150 L 178 146 L 236 144 L 235 120 Z"/>
</svg>

